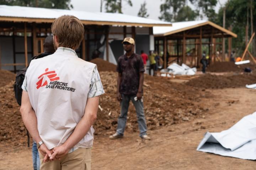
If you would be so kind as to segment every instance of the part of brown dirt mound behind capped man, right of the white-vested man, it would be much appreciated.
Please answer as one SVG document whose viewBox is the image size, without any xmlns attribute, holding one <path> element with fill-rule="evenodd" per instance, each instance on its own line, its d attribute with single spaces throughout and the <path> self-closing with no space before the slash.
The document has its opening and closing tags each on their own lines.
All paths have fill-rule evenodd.
<svg viewBox="0 0 256 170">
<path fill-rule="evenodd" d="M 102 111 L 98 110 L 95 122 L 96 135 L 109 135 L 116 130 L 120 103 L 116 99 L 117 73 L 100 72 L 106 94 L 100 98 Z M 209 92 L 198 91 L 187 85 L 171 82 L 161 77 L 145 75 L 144 81 L 144 111 L 148 129 L 159 126 L 188 121 L 195 117 L 202 117 L 208 108 L 199 102 L 203 97 L 210 97 Z M 164 90 L 163 90 L 164 89 Z M 105 132 L 108 130 L 108 132 Z M 128 111 L 127 131 L 138 132 L 137 116 L 132 102 Z"/>
</svg>

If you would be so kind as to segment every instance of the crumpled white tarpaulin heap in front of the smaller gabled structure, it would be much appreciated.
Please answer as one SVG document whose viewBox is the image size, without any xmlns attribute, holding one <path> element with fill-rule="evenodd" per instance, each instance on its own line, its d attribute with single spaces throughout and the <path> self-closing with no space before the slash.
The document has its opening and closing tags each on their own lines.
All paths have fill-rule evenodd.
<svg viewBox="0 0 256 170">
<path fill-rule="evenodd" d="M 196 74 L 196 67 L 190 68 L 186 64 L 182 64 L 181 66 L 173 63 L 167 67 L 167 69 L 162 69 L 160 72 L 168 72 L 173 75 L 195 75 Z M 166 74 L 161 74 L 161 76 L 166 76 Z"/>
</svg>

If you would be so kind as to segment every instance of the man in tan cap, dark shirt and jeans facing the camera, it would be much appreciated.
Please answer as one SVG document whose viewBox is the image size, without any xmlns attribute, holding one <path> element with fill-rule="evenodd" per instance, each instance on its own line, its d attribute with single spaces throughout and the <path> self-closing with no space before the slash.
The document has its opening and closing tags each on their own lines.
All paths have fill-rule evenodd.
<svg viewBox="0 0 256 170">
<path fill-rule="evenodd" d="M 129 102 L 132 101 L 139 124 L 140 137 L 143 140 L 150 140 L 147 135 L 147 127 L 143 110 L 143 81 L 144 81 L 144 64 L 140 55 L 133 52 L 134 39 L 127 37 L 123 40 L 125 55 L 118 58 L 117 64 L 117 100 L 121 103 L 121 114 L 118 117 L 117 131 L 110 136 L 110 139 L 122 138 L 126 126 L 127 112 Z"/>
</svg>

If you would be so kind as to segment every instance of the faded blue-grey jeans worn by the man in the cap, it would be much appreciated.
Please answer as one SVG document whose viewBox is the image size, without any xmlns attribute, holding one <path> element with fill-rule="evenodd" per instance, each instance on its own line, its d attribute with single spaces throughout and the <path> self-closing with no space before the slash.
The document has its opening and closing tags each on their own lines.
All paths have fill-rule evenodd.
<svg viewBox="0 0 256 170">
<path fill-rule="evenodd" d="M 118 122 L 117 122 L 117 134 L 118 135 L 123 135 L 124 134 L 124 129 L 126 126 L 126 120 L 127 120 L 127 112 L 128 112 L 128 108 L 129 108 L 129 102 L 130 100 L 132 101 L 135 109 L 136 109 L 136 113 L 137 113 L 137 121 L 139 124 L 139 131 L 140 131 L 140 135 L 145 135 L 146 131 L 147 131 L 147 127 L 146 127 L 146 120 L 145 120 L 145 115 L 144 115 L 144 110 L 143 110 L 143 102 L 141 100 L 134 100 L 134 97 L 136 97 L 136 95 L 122 95 L 122 101 L 121 101 L 121 113 L 118 117 Z"/>
</svg>

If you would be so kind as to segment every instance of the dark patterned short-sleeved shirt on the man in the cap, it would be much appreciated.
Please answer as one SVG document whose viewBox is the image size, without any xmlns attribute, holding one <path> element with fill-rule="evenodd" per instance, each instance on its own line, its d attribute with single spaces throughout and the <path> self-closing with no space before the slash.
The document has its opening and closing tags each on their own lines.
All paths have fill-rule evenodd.
<svg viewBox="0 0 256 170">
<path fill-rule="evenodd" d="M 124 95 L 136 95 L 139 89 L 139 73 L 144 72 L 144 64 L 140 55 L 133 53 L 118 58 L 117 72 L 122 74 L 119 92 Z"/>
</svg>

